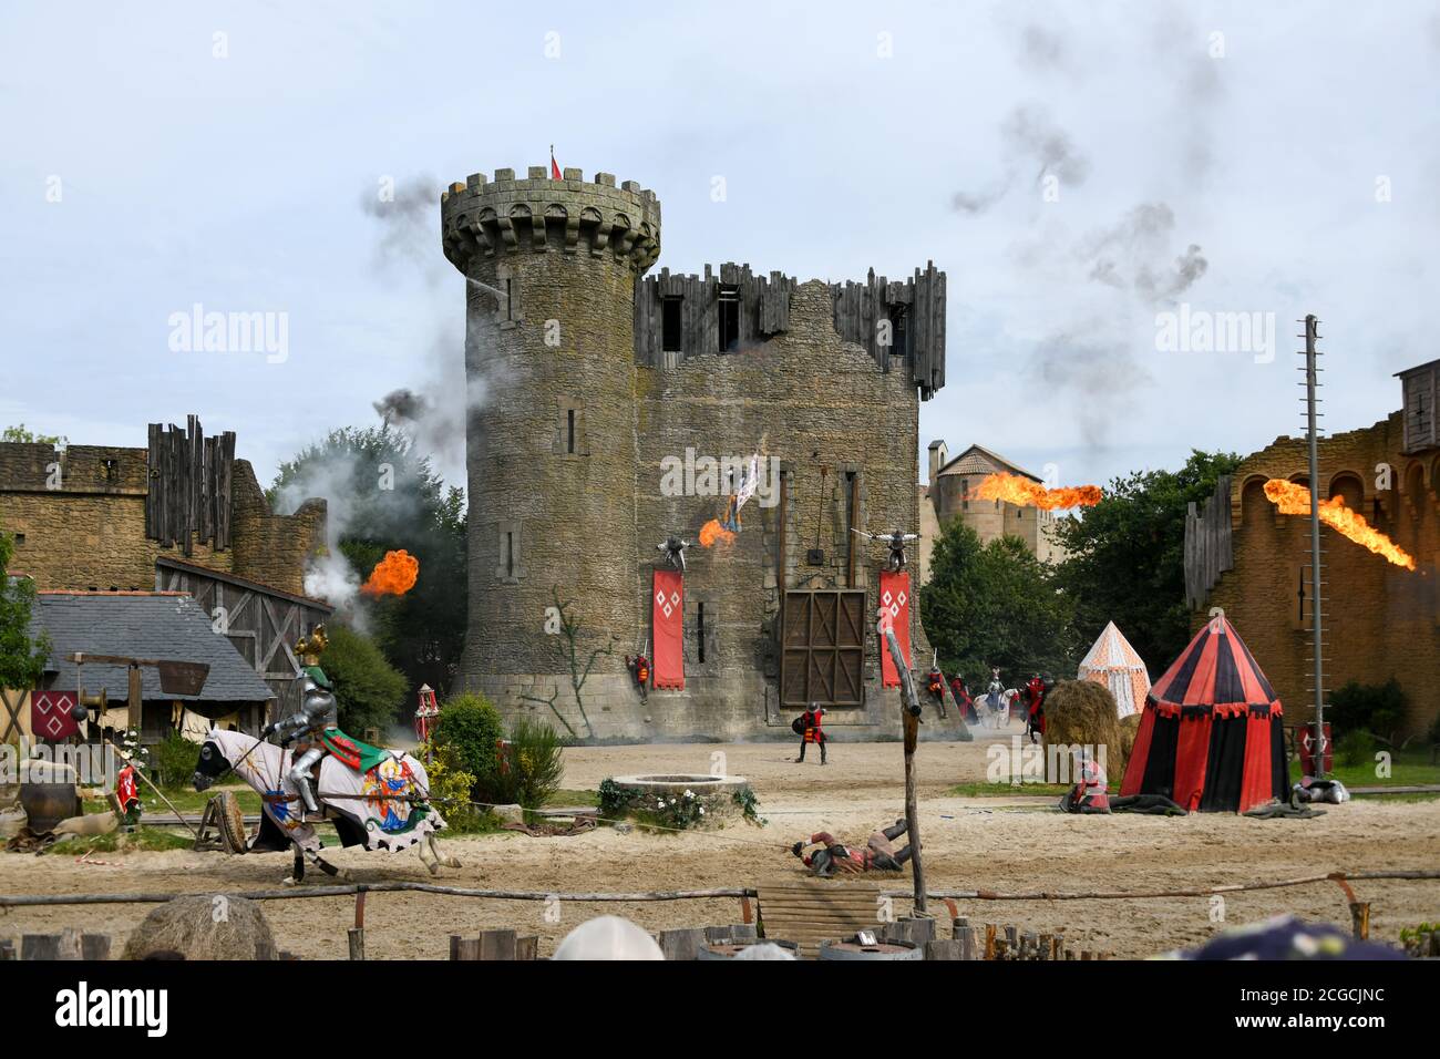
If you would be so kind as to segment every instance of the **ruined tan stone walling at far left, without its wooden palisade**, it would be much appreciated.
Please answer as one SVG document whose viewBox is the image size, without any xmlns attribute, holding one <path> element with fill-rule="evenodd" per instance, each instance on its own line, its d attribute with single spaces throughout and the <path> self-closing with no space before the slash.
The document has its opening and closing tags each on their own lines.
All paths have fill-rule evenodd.
<svg viewBox="0 0 1440 1059">
<path fill-rule="evenodd" d="M 233 549 L 197 543 L 189 562 L 301 592 L 304 556 L 324 540 L 324 501 L 276 517 L 246 461 L 235 461 L 235 480 Z M 147 491 L 143 448 L 0 444 L 0 529 L 17 535 L 12 569 L 40 589 L 153 589 L 156 559 L 180 549 L 145 537 Z"/>
</svg>

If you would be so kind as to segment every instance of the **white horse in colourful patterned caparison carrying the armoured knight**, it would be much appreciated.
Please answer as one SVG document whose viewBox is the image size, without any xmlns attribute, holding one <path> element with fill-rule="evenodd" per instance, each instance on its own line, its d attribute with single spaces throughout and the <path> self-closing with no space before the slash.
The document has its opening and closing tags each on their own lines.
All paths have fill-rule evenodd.
<svg viewBox="0 0 1440 1059">
<path fill-rule="evenodd" d="M 264 800 L 261 830 L 251 839 L 249 849 L 294 849 L 295 869 L 288 883 L 304 879 L 302 857 L 310 857 L 327 875 L 344 877 L 341 869 L 320 856 L 320 836 L 305 818 L 300 788 L 289 778 L 291 758 L 291 751 L 275 743 L 242 732 L 212 729 L 200 748 L 194 788 L 203 791 L 233 771 Z M 328 754 L 320 762 L 321 813 L 334 821 L 343 846 L 392 853 L 416 846 L 420 863 L 431 875 L 438 875 L 442 864 L 459 867 L 459 862 L 435 844 L 435 833 L 445 827 L 445 820 L 429 804 L 429 790 L 425 765 L 409 754 L 386 751 L 386 756 L 366 772 Z"/>
</svg>

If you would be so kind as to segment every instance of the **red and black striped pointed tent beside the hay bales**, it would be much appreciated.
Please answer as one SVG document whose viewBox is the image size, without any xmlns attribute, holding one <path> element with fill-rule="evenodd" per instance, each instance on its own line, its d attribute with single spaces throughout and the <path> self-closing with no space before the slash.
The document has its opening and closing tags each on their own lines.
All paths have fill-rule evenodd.
<svg viewBox="0 0 1440 1059">
<path fill-rule="evenodd" d="M 1164 794 L 1189 811 L 1244 813 L 1289 790 L 1274 689 L 1224 611 L 1145 697 L 1122 794 Z"/>
</svg>

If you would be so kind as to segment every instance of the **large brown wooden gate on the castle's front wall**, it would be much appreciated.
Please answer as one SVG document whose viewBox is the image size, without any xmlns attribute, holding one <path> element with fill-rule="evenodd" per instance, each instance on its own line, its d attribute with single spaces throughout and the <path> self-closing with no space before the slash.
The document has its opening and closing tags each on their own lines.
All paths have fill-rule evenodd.
<svg viewBox="0 0 1440 1059">
<path fill-rule="evenodd" d="M 780 630 L 780 706 L 864 706 L 865 592 L 785 594 Z"/>
</svg>

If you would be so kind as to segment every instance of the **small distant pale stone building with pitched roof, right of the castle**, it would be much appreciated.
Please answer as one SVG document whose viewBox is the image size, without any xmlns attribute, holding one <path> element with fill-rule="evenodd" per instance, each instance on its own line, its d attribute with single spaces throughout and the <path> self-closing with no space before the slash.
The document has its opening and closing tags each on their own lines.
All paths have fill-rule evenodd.
<svg viewBox="0 0 1440 1059">
<path fill-rule="evenodd" d="M 971 445 L 956 457 L 949 454 L 945 441 L 932 441 L 929 448 L 929 484 L 920 488 L 922 503 L 929 503 L 933 511 L 932 532 L 939 536 L 945 526 L 959 519 L 979 535 L 988 545 L 999 536 L 1020 537 L 1043 562 L 1060 562 L 1064 549 L 1056 539 L 1056 513 L 1038 507 L 1021 507 L 1007 500 L 971 500 L 969 494 L 991 474 L 1014 474 L 1045 484 L 1040 475 L 1027 471 L 1020 464 L 1007 460 L 981 445 Z M 923 569 L 929 576 L 929 555 L 933 539 L 922 542 Z"/>
</svg>

